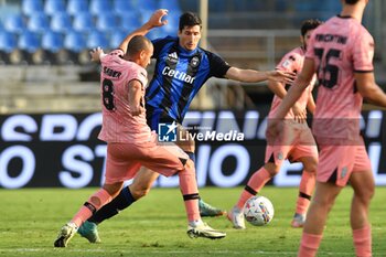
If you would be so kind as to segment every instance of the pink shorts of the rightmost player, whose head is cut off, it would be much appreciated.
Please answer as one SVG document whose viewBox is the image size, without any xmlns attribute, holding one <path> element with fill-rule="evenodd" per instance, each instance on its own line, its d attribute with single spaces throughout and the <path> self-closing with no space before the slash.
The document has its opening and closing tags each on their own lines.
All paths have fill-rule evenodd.
<svg viewBox="0 0 386 257">
<path fill-rule="evenodd" d="M 330 181 L 339 186 L 345 186 L 351 173 L 371 170 L 363 138 L 350 146 L 320 146 L 317 172 L 317 180 L 320 182 Z"/>
</svg>

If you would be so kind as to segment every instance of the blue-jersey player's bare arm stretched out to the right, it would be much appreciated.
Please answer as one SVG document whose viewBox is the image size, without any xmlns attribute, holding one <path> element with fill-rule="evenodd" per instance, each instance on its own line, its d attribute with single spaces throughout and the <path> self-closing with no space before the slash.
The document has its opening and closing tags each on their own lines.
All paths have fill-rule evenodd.
<svg viewBox="0 0 386 257">
<path fill-rule="evenodd" d="M 225 74 L 226 78 L 238 81 L 238 82 L 264 82 L 275 81 L 282 83 L 291 83 L 294 79 L 296 74 L 282 71 L 254 71 L 243 69 L 237 67 L 230 67 Z"/>
</svg>

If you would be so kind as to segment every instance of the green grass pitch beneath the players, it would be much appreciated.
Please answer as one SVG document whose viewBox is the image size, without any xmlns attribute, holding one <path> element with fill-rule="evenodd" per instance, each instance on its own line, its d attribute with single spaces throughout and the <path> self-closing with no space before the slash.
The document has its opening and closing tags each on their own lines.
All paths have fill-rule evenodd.
<svg viewBox="0 0 386 257">
<path fill-rule="evenodd" d="M 275 206 L 272 222 L 264 227 L 247 224 L 232 228 L 225 217 L 204 218 L 223 229 L 219 240 L 191 239 L 179 189 L 152 189 L 150 194 L 99 226 L 101 244 L 75 235 L 67 248 L 54 248 L 61 226 L 96 189 L 0 190 L 0 256 L 296 256 L 301 229 L 289 226 L 297 197 L 296 188 L 267 186 L 261 194 Z M 201 189 L 202 197 L 229 210 L 242 188 Z M 355 256 L 351 228 L 352 190 L 346 188 L 330 214 L 318 256 Z M 372 203 L 374 256 L 386 256 L 386 188 L 377 188 Z"/>
</svg>

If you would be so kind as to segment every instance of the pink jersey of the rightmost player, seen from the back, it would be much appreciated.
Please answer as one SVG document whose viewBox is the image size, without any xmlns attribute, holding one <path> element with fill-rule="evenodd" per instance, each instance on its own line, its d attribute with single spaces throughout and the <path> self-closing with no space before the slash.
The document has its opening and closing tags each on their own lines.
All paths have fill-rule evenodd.
<svg viewBox="0 0 386 257">
<path fill-rule="evenodd" d="M 372 72 L 373 55 L 372 35 L 353 18 L 337 15 L 314 30 L 305 57 L 314 61 L 320 84 L 312 126 L 315 137 L 358 137 L 363 97 L 354 73 Z"/>
</svg>

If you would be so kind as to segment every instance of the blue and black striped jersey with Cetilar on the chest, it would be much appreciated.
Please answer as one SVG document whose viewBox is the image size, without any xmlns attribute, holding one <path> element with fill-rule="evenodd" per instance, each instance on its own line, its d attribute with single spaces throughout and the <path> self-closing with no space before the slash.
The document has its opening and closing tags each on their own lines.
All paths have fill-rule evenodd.
<svg viewBox="0 0 386 257">
<path fill-rule="evenodd" d="M 181 124 L 204 83 L 212 76 L 223 78 L 230 66 L 201 47 L 186 51 L 179 45 L 179 38 L 167 36 L 152 43 L 152 57 L 157 63 L 146 93 L 147 110 L 150 116 L 162 116 Z"/>
</svg>

